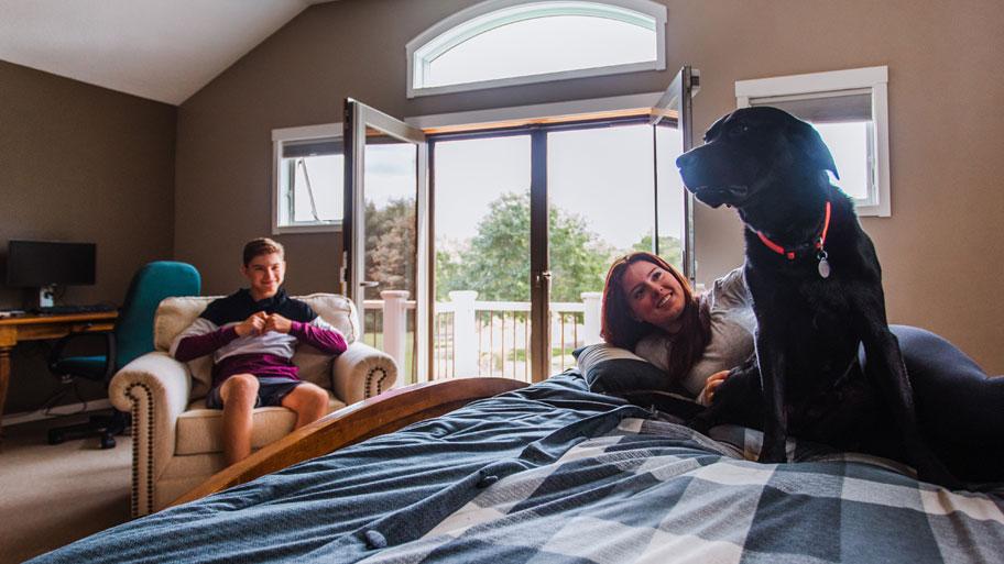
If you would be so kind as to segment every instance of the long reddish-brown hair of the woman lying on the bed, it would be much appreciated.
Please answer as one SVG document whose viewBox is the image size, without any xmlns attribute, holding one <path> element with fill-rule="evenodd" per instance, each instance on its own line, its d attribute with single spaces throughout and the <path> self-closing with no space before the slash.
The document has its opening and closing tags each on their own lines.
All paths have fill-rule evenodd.
<svg viewBox="0 0 1004 564">
<path fill-rule="evenodd" d="M 645 335 L 662 329 L 635 319 L 628 302 L 624 288 L 624 272 L 634 263 L 644 261 L 668 272 L 684 290 L 684 311 L 680 313 L 680 329 L 668 336 L 669 377 L 679 380 L 687 375 L 690 366 L 701 357 L 711 339 L 709 305 L 705 297 L 695 296 L 690 283 L 673 265 L 658 255 L 640 251 L 618 258 L 607 273 L 603 286 L 603 306 L 600 318 L 600 335 L 603 341 L 622 349 L 634 350 Z"/>
</svg>

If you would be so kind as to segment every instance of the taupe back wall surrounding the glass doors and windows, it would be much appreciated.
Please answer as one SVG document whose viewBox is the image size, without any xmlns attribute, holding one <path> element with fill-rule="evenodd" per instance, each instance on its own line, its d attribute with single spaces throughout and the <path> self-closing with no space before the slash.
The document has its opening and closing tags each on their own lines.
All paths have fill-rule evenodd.
<svg viewBox="0 0 1004 564">
<path fill-rule="evenodd" d="M 244 240 L 270 228 L 274 128 L 341 121 L 347 96 L 414 117 L 665 88 L 702 71 L 695 131 L 735 107 L 739 79 L 887 65 L 893 217 L 863 220 L 885 272 L 890 319 L 935 330 L 1004 373 L 1004 10 L 997 0 L 667 0 L 668 68 L 407 100 L 404 44 L 476 0 L 341 0 L 315 5 L 182 104 L 175 251 L 206 291 L 240 284 Z M 697 135 L 699 137 L 699 135 Z M 696 213 L 699 277 L 742 261 L 727 210 Z M 340 237 L 280 237 L 293 291 L 337 284 Z"/>
</svg>

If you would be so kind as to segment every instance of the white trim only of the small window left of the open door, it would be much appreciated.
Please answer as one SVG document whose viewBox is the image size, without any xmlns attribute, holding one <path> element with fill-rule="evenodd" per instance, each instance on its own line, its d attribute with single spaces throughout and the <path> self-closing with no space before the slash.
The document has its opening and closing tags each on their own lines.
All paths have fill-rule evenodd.
<svg viewBox="0 0 1004 564">
<path fill-rule="evenodd" d="M 342 220 L 308 221 L 292 223 L 290 196 L 283 186 L 283 145 L 291 142 L 315 139 L 341 139 L 345 134 L 341 123 L 321 123 L 302 128 L 272 130 L 272 234 L 283 233 L 332 233 L 342 228 Z"/>
</svg>

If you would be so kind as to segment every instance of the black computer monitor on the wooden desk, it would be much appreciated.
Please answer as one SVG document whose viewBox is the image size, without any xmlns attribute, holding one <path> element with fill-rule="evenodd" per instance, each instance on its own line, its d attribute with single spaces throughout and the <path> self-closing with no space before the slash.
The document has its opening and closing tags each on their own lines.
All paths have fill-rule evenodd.
<svg viewBox="0 0 1004 564">
<path fill-rule="evenodd" d="M 96 257 L 94 243 L 9 241 L 7 285 L 40 288 L 39 307 L 52 306 L 55 286 L 95 283 Z"/>
</svg>

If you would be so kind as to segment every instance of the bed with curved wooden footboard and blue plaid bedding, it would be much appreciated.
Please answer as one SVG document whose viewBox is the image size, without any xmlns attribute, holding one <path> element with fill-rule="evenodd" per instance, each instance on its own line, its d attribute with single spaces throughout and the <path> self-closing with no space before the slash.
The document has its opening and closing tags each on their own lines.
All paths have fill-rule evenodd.
<svg viewBox="0 0 1004 564">
<path fill-rule="evenodd" d="M 1004 488 L 948 491 L 891 461 L 796 441 L 790 463 L 757 464 L 757 431 L 698 434 L 674 401 L 590 391 L 575 369 L 523 386 L 394 390 L 260 451 L 187 502 L 32 562 L 1004 559 Z"/>
</svg>

